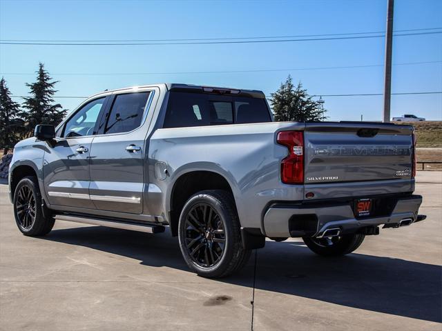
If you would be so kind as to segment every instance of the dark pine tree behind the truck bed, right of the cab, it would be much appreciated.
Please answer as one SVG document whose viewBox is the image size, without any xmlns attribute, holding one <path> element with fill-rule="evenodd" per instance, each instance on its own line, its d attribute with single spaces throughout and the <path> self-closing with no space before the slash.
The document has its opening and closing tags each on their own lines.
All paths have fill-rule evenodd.
<svg viewBox="0 0 442 331">
<path fill-rule="evenodd" d="M 271 93 L 270 102 L 275 121 L 323 121 L 327 118 L 327 110 L 311 98 L 301 83 L 295 88 L 291 77 L 287 77 L 279 90 Z"/>
</svg>

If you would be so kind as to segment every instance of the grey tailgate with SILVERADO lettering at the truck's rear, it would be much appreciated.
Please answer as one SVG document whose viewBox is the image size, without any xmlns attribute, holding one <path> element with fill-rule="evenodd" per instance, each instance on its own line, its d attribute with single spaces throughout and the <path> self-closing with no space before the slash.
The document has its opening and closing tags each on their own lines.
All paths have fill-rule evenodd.
<svg viewBox="0 0 442 331">
<path fill-rule="evenodd" d="M 412 126 L 307 123 L 305 183 L 411 179 Z"/>
</svg>

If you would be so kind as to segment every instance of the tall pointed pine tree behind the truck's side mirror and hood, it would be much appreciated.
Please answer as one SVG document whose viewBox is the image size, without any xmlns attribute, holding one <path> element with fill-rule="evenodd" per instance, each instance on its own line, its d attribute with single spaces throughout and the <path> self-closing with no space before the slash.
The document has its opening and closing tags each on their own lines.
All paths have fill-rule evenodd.
<svg viewBox="0 0 442 331">
<path fill-rule="evenodd" d="M 37 124 L 52 124 L 57 125 L 66 115 L 66 110 L 62 110 L 59 103 L 53 104 L 56 90 L 55 84 L 58 81 L 52 81 L 48 72 L 44 70 L 44 64 L 39 63 L 39 70 L 37 71 L 37 81 L 32 84 L 26 83 L 30 88 L 32 97 L 25 98 L 23 108 L 23 117 L 26 120 L 26 131 L 31 134 Z"/>
</svg>

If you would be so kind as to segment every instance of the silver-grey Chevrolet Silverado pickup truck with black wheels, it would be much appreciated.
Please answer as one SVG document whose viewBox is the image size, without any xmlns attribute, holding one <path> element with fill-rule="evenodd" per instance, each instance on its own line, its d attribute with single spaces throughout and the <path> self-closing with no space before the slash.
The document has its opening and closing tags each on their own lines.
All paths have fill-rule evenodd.
<svg viewBox="0 0 442 331">
<path fill-rule="evenodd" d="M 273 122 L 257 90 L 157 84 L 37 126 L 15 146 L 9 188 L 23 234 L 55 219 L 169 227 L 191 270 L 224 277 L 266 237 L 336 256 L 380 225 L 422 221 L 415 160 L 412 126 Z"/>
</svg>

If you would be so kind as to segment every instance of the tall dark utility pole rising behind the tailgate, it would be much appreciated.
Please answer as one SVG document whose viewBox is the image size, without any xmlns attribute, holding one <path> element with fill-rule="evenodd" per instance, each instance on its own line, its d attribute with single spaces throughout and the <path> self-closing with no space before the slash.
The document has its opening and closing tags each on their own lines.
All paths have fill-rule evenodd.
<svg viewBox="0 0 442 331">
<path fill-rule="evenodd" d="M 394 0 L 387 0 L 387 30 L 385 32 L 384 122 L 390 122 L 390 99 L 392 97 L 393 3 Z"/>
</svg>

